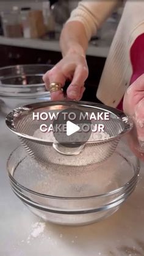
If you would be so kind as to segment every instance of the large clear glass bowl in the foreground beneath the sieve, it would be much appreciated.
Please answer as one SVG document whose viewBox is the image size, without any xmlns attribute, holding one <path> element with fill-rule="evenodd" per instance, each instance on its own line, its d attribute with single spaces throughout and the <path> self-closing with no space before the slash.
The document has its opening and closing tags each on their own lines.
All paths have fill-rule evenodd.
<svg viewBox="0 0 144 256">
<path fill-rule="evenodd" d="M 85 225 L 115 213 L 135 189 L 139 160 L 120 141 L 101 164 L 70 167 L 31 159 L 22 147 L 7 161 L 10 185 L 32 213 L 62 225 Z"/>
</svg>

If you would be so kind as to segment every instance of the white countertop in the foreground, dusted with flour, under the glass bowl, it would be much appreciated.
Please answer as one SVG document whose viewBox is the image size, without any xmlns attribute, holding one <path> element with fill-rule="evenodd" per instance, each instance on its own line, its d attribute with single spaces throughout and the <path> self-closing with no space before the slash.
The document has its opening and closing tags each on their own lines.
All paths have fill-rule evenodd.
<svg viewBox="0 0 144 256">
<path fill-rule="evenodd" d="M 144 255 L 144 165 L 137 188 L 120 210 L 108 219 L 84 227 L 47 223 L 44 232 L 32 238 L 32 225 L 40 219 L 33 215 L 10 189 L 6 162 L 10 152 L 19 145 L 19 141 L 5 126 L 2 115 L 0 145 L 1 256 Z"/>
</svg>

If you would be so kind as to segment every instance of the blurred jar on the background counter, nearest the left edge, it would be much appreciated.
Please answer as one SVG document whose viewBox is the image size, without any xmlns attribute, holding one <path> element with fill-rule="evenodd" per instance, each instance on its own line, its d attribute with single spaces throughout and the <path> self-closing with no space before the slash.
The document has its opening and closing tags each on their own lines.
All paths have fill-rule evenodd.
<svg viewBox="0 0 144 256">
<path fill-rule="evenodd" d="M 1 12 L 1 18 L 5 37 L 23 37 L 18 7 L 15 6 L 12 10 Z"/>
</svg>

